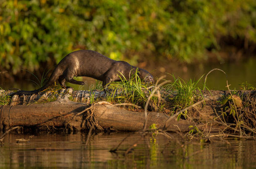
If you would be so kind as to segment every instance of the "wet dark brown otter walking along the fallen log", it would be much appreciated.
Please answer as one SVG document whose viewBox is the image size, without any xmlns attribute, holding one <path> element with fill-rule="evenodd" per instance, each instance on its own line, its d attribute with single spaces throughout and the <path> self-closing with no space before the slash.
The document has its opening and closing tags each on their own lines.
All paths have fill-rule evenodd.
<svg viewBox="0 0 256 169">
<path fill-rule="evenodd" d="M 125 61 L 114 61 L 93 50 L 77 50 L 63 58 L 52 72 L 47 83 L 34 91 L 17 91 L 13 95 L 30 95 L 43 91 L 45 88 L 59 81 L 60 85 L 66 87 L 65 81 L 83 85 L 83 81 L 76 81 L 74 76 L 87 76 L 102 81 L 103 88 L 112 81 L 120 81 L 120 73 L 129 79 L 131 73 L 135 73 L 136 66 Z M 138 76 L 145 82 L 153 83 L 153 76 L 146 70 L 138 68 Z M 121 76 L 122 77 L 122 76 Z"/>
</svg>

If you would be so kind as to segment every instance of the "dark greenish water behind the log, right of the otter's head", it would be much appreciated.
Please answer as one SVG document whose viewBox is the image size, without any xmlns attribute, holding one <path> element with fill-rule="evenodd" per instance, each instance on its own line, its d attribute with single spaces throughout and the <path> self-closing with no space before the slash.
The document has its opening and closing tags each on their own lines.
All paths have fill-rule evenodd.
<svg viewBox="0 0 256 169">
<path fill-rule="evenodd" d="M 206 74 L 214 68 L 221 69 L 226 75 L 221 71 L 212 71 L 212 73 L 207 76 L 206 80 L 206 87 L 210 90 L 227 90 L 227 81 L 232 90 L 240 90 L 240 84 L 245 82 L 256 86 L 256 57 L 250 57 L 236 62 L 181 66 L 179 69 L 173 71 L 166 68 L 165 72 L 173 74 L 176 78 L 180 77 L 185 81 L 189 79 L 197 81 L 204 75 L 201 81 L 199 81 L 199 87 L 202 88 Z M 165 72 L 156 73 L 156 76 L 160 77 L 166 75 L 168 80 L 172 80 L 173 78 Z"/>
</svg>

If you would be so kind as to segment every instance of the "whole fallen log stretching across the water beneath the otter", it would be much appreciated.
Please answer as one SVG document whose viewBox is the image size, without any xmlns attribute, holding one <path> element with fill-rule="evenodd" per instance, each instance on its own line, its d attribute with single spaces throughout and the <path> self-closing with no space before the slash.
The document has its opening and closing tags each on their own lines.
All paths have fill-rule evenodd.
<svg viewBox="0 0 256 169">
<path fill-rule="evenodd" d="M 157 124 L 159 129 L 185 132 L 189 130 L 191 124 L 195 125 L 196 122 L 199 129 L 204 131 L 216 132 L 229 129 L 230 125 L 227 126 L 226 123 L 222 122 L 230 120 L 223 119 L 223 110 L 227 105 L 220 103 L 223 96 L 229 95 L 229 91 L 201 92 L 204 101 L 189 108 L 188 114 L 190 116 L 187 120 L 180 119 L 177 121 L 177 118 L 168 120 L 171 117 L 168 115 L 168 111 L 165 114 L 149 112 L 146 127 L 154 123 Z M 94 91 L 69 91 L 67 94 L 58 94 L 57 101 L 37 104 L 34 102 L 42 97 L 47 98 L 47 96 L 33 95 L 24 98 L 13 96 L 10 105 L 0 106 L 1 129 L 26 126 L 36 129 L 67 128 L 69 130 L 84 130 L 94 126 L 100 130 L 138 131 L 144 128 L 144 112 L 128 111 L 108 104 L 96 103 L 89 111 L 80 114 L 81 111 L 89 107 L 88 100 L 91 96 L 98 98 L 104 96 L 102 91 L 95 91 L 95 93 Z M 74 95 L 77 97 L 74 97 Z M 243 100 L 243 106 L 237 108 L 240 122 L 246 122 L 243 129 L 256 133 L 256 91 L 238 91 L 237 95 Z M 84 100 L 86 102 L 68 101 L 65 98 L 69 96 L 80 99 L 78 101 Z M 166 101 L 168 103 L 168 99 Z M 21 105 L 16 105 L 17 103 Z M 233 124 L 238 124 L 234 118 L 231 118 L 231 120 L 233 120 Z M 250 129 L 248 129 L 248 126 Z M 234 128 L 235 131 L 238 131 L 236 127 Z"/>
</svg>

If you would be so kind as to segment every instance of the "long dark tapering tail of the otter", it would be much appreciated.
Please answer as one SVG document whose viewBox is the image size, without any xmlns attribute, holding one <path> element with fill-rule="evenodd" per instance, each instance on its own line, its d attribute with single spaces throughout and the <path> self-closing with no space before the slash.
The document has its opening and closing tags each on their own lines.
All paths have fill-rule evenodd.
<svg viewBox="0 0 256 169">
<path fill-rule="evenodd" d="M 34 93 L 38 93 L 40 91 L 43 91 L 45 88 L 47 88 L 48 86 L 50 86 L 51 84 L 53 84 L 55 81 L 57 81 L 57 79 L 60 77 L 60 75 L 62 74 L 62 72 L 60 70 L 58 70 L 58 66 L 54 69 L 54 71 L 52 72 L 49 80 L 47 81 L 47 83 L 42 86 L 41 88 L 34 90 L 34 91 L 17 91 L 14 93 L 11 93 L 10 96 L 13 95 L 31 95 Z"/>
</svg>

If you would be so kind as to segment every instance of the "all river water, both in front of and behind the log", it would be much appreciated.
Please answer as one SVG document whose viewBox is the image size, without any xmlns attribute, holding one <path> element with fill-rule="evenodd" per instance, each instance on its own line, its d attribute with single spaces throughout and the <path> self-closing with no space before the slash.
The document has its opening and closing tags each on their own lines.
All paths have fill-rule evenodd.
<svg viewBox="0 0 256 169">
<path fill-rule="evenodd" d="M 231 89 L 239 89 L 239 84 L 248 82 L 256 86 L 256 57 L 237 63 L 216 63 L 201 66 L 185 66 L 168 70 L 156 66 L 155 77 L 173 74 L 185 81 L 197 80 L 213 68 L 206 86 L 212 90 L 226 90 L 226 80 Z M 147 69 L 147 68 L 146 68 Z M 148 68 L 152 70 L 154 68 Z M 204 76 L 205 77 L 205 76 Z M 203 80 L 200 83 L 204 83 Z M 172 79 L 167 75 L 166 79 Z M 34 79 L 33 79 L 34 80 Z M 89 79 L 88 86 L 95 83 Z M 200 84 L 199 83 L 199 84 Z M 88 86 L 73 85 L 76 90 Z M 38 88 L 31 81 L 0 82 L 0 87 L 18 87 L 24 90 Z M 126 136 L 117 153 L 110 149 L 117 146 Z M 17 143 L 16 139 L 28 139 L 31 134 L 8 134 L 0 146 L 0 169 L 4 168 L 256 168 L 256 141 L 253 140 L 212 140 L 209 144 L 198 140 L 188 141 L 172 134 L 173 139 L 157 136 L 156 141 L 143 138 L 139 134 L 116 132 L 93 134 L 86 147 L 86 133 L 76 134 L 34 134 L 29 142 Z M 137 141 L 140 140 L 140 141 Z M 137 144 L 131 153 L 125 155 L 131 145 Z M 148 143 L 148 144 L 147 144 Z"/>
</svg>

